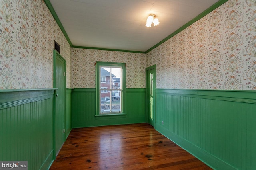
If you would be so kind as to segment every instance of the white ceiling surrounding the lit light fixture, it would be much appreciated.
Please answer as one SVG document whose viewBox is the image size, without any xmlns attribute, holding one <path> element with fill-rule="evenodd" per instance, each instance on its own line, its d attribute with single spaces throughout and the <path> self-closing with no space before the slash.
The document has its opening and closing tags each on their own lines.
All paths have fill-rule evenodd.
<svg viewBox="0 0 256 170">
<path fill-rule="evenodd" d="M 147 51 L 218 0 L 50 0 L 74 46 Z M 160 24 L 146 27 L 155 14 Z"/>
</svg>

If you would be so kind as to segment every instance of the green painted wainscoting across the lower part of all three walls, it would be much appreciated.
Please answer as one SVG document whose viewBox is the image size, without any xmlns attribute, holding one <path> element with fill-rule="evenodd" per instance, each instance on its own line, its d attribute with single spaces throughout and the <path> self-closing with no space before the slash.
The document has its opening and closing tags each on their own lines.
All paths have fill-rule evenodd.
<svg viewBox="0 0 256 170">
<path fill-rule="evenodd" d="M 94 88 L 66 94 L 66 136 L 71 117 L 72 127 L 146 122 L 146 89 L 126 89 L 126 115 L 117 116 L 94 116 Z M 0 91 L 0 160 L 50 166 L 53 102 L 54 90 Z M 256 169 L 255 110 L 254 91 L 156 89 L 155 128 L 214 169 Z"/>
</svg>

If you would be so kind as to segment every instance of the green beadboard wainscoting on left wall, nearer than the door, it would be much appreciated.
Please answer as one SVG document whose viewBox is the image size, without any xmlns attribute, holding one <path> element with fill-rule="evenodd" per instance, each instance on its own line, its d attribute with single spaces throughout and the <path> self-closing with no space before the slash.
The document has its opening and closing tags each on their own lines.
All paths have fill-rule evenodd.
<svg viewBox="0 0 256 170">
<path fill-rule="evenodd" d="M 54 90 L 0 91 L 0 160 L 28 161 L 46 170 L 53 161 Z"/>
</svg>

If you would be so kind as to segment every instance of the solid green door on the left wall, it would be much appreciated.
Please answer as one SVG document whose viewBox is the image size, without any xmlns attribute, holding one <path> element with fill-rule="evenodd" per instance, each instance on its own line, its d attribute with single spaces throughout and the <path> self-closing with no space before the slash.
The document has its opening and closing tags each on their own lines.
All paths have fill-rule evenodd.
<svg viewBox="0 0 256 170">
<path fill-rule="evenodd" d="M 54 143 L 55 155 L 65 141 L 65 117 L 66 117 L 66 60 L 54 51 L 54 88 L 56 89 L 55 116 L 54 116 Z"/>
</svg>

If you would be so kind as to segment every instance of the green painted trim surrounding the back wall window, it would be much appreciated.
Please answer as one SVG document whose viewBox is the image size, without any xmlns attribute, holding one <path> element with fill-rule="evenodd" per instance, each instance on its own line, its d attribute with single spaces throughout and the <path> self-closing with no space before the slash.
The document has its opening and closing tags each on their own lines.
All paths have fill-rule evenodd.
<svg viewBox="0 0 256 170">
<path fill-rule="evenodd" d="M 104 113 L 100 114 L 100 68 L 101 66 L 122 67 L 122 100 L 121 100 L 121 112 L 120 113 Z M 125 90 L 126 90 L 126 63 L 112 63 L 112 62 L 96 62 L 96 113 L 95 116 L 106 115 L 126 115 L 125 113 Z"/>
</svg>

